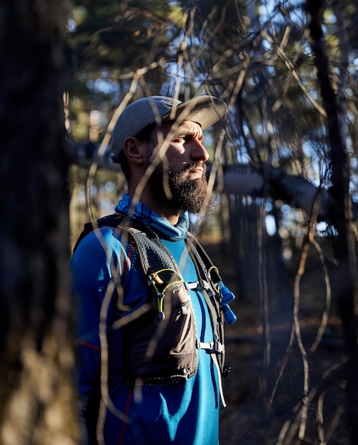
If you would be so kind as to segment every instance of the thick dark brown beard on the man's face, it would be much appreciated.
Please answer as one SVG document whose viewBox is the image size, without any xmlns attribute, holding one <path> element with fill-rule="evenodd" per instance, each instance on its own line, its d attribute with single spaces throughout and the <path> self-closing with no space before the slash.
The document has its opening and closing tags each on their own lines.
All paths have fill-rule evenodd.
<svg viewBox="0 0 358 445">
<path fill-rule="evenodd" d="M 189 180 L 185 176 L 195 166 L 203 166 L 202 178 Z M 207 198 L 206 166 L 202 163 L 191 163 L 182 170 L 173 173 L 163 172 L 159 165 L 148 179 L 148 186 L 153 198 L 173 210 L 187 210 L 189 213 L 200 213 Z M 168 190 L 169 186 L 169 190 Z"/>
</svg>

